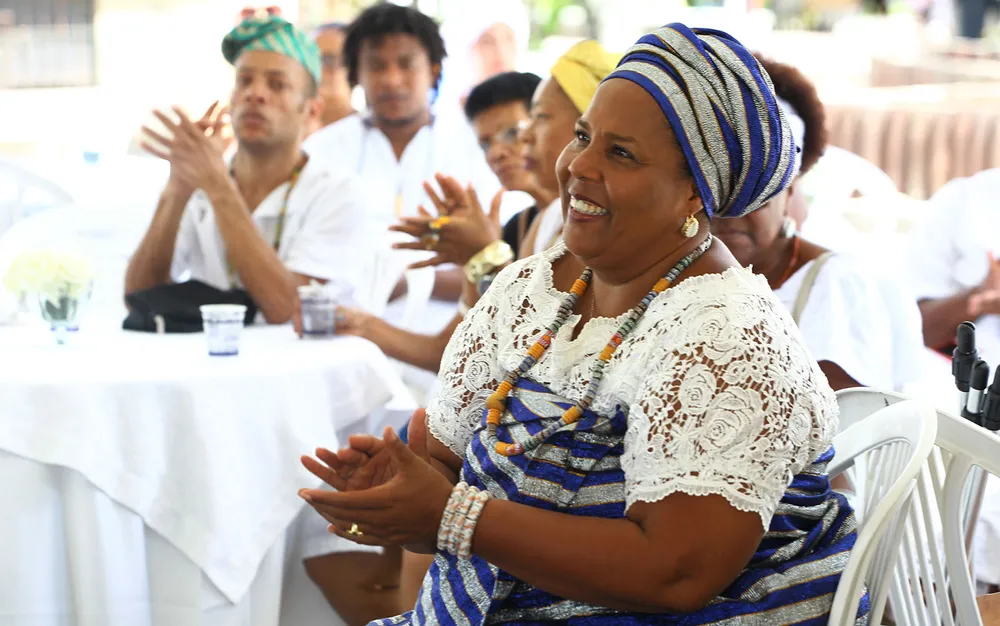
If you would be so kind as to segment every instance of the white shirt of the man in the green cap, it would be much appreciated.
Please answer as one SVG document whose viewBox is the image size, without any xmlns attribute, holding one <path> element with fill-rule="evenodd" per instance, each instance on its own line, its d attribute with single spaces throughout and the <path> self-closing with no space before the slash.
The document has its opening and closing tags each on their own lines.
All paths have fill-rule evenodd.
<svg viewBox="0 0 1000 626">
<path fill-rule="evenodd" d="M 267 244 L 273 245 L 278 215 L 289 183 L 279 185 L 251 217 Z M 373 245 L 364 219 L 360 185 L 353 176 L 324 168 L 310 159 L 288 198 L 278 256 L 289 271 L 328 280 L 353 290 L 367 280 L 366 259 Z M 171 275 L 190 277 L 219 289 L 230 289 L 226 250 L 208 196 L 198 190 L 181 218 Z M 237 286 L 239 276 L 234 276 Z"/>
</svg>

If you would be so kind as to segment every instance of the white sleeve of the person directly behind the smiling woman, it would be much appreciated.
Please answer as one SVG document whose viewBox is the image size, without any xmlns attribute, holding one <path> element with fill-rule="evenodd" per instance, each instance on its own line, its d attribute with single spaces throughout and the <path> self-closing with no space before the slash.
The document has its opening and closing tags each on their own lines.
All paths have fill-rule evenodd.
<svg viewBox="0 0 1000 626">
<path fill-rule="evenodd" d="M 835 256 L 820 268 L 799 331 L 817 362 L 836 364 L 865 387 L 896 388 L 893 319 L 876 280 L 849 261 Z"/>
</svg>

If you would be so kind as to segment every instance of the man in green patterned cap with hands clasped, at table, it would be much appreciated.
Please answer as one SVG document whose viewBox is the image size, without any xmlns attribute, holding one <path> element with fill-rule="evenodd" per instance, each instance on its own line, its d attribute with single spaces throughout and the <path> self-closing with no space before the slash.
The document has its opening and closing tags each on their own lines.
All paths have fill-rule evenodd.
<svg viewBox="0 0 1000 626">
<path fill-rule="evenodd" d="M 170 179 L 126 274 L 126 293 L 181 275 L 246 289 L 268 323 L 296 308 L 312 280 L 362 288 L 371 258 L 358 183 L 310 162 L 302 139 L 322 112 L 319 52 L 278 16 L 249 18 L 222 42 L 236 69 L 230 97 L 237 150 L 223 157 L 223 111 L 200 120 L 155 111 L 144 148 L 170 162 Z"/>
</svg>

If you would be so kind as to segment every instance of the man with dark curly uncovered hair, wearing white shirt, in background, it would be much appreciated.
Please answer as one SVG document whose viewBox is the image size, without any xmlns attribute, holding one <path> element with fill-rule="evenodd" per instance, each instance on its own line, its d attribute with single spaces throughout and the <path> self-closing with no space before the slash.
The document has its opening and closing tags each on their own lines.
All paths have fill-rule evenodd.
<svg viewBox="0 0 1000 626">
<path fill-rule="evenodd" d="M 430 16 L 392 3 L 369 7 L 344 38 L 348 81 L 361 86 L 368 112 L 326 126 L 304 144 L 310 156 L 362 179 L 367 217 L 386 228 L 401 216 L 417 215 L 418 206 L 431 205 L 424 182 L 437 172 L 472 184 L 485 198 L 500 190 L 468 123 L 432 114 L 431 93 L 440 85 L 445 56 Z M 462 282 L 460 269 L 441 268 L 433 300 L 416 319 L 406 320 L 408 328 L 440 331 L 454 314 Z M 392 299 L 401 300 L 405 287 L 401 281 Z M 402 302 L 393 302 L 384 316 L 402 324 L 404 312 Z M 416 388 L 430 384 L 419 375 L 411 382 Z"/>
</svg>

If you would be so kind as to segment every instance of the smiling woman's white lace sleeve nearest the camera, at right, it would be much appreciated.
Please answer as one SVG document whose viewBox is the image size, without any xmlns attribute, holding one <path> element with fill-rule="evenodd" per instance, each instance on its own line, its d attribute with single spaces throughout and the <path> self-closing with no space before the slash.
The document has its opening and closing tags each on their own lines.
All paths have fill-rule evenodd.
<svg viewBox="0 0 1000 626">
<path fill-rule="evenodd" d="M 830 445 L 833 392 L 767 296 L 706 294 L 660 320 L 629 408 L 628 506 L 721 495 L 759 514 L 766 531 L 792 477 Z"/>
</svg>

